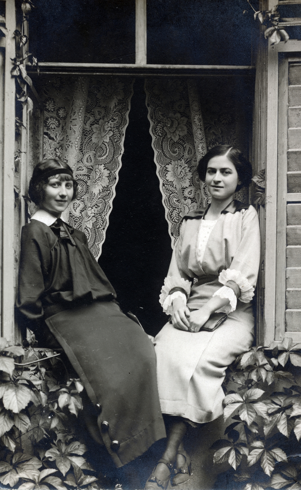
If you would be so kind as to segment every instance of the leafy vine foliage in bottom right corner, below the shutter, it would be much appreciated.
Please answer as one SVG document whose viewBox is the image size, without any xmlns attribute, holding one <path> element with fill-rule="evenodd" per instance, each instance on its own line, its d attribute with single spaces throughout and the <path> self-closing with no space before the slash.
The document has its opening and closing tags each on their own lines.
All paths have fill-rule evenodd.
<svg viewBox="0 0 301 490">
<path fill-rule="evenodd" d="M 228 461 L 243 490 L 301 489 L 301 461 L 291 453 L 301 439 L 300 348 L 290 338 L 273 350 L 252 347 L 228 369 L 227 439 L 213 445 L 214 462 Z"/>
</svg>

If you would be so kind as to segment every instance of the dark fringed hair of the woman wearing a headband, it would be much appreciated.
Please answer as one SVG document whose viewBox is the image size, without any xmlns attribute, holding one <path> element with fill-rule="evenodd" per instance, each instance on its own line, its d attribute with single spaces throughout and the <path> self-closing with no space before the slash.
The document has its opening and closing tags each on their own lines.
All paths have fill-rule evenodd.
<svg viewBox="0 0 301 490">
<path fill-rule="evenodd" d="M 48 184 L 49 179 L 54 177 L 54 175 L 52 175 L 51 177 L 47 176 L 47 174 L 49 175 L 49 170 L 56 170 L 56 169 L 66 169 L 72 172 L 72 169 L 69 167 L 69 165 L 63 162 L 62 160 L 59 160 L 58 158 L 50 158 L 49 160 L 42 160 L 42 162 L 39 162 L 34 168 L 32 177 L 29 182 L 28 195 L 30 199 L 35 204 L 37 204 L 37 206 L 40 206 L 40 204 L 44 200 L 45 186 Z M 67 180 L 72 180 L 73 182 L 72 200 L 75 199 L 77 193 L 77 187 L 78 187 L 76 180 L 74 180 L 74 178 L 69 173 L 59 173 L 58 178 L 62 182 Z"/>
</svg>

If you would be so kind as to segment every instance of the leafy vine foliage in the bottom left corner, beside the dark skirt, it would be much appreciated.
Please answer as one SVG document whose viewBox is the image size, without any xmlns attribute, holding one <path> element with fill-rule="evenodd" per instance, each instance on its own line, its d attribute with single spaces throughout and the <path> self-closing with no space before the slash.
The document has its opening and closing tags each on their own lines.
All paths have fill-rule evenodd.
<svg viewBox="0 0 301 490">
<path fill-rule="evenodd" d="M 7 487 L 100 488 L 75 437 L 84 387 L 76 378 L 60 381 L 61 365 L 50 350 L 0 338 L 0 483 Z"/>
</svg>

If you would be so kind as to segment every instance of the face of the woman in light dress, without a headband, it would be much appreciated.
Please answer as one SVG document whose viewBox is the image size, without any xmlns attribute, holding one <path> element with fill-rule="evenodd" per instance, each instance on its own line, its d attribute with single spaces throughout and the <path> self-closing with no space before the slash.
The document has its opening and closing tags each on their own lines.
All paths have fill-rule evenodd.
<svg viewBox="0 0 301 490">
<path fill-rule="evenodd" d="M 209 160 L 206 184 L 215 199 L 224 200 L 233 196 L 240 181 L 235 166 L 227 156 L 215 156 Z"/>
</svg>

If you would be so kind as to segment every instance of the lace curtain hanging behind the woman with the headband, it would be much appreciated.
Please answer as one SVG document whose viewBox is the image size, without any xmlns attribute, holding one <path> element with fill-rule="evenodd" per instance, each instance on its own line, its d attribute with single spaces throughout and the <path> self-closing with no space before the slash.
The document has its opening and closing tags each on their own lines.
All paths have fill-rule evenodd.
<svg viewBox="0 0 301 490">
<path fill-rule="evenodd" d="M 51 78 L 38 91 L 44 103 L 44 158 L 61 158 L 73 169 L 78 195 L 63 218 L 86 233 L 101 254 L 129 123 L 132 78 Z M 37 163 L 37 141 L 30 141 Z M 30 169 L 31 170 L 31 169 Z"/>
</svg>

